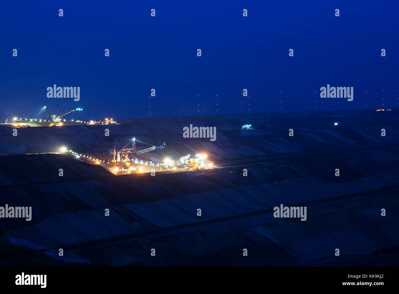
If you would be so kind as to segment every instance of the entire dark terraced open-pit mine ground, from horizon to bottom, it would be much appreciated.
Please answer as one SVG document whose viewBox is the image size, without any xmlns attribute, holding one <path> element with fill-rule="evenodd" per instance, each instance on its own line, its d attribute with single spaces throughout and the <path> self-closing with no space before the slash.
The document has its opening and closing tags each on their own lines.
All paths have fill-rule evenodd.
<svg viewBox="0 0 399 294">
<path fill-rule="evenodd" d="M 169 143 L 143 160 L 207 152 L 221 166 L 116 176 L 62 154 L 1 155 L 0 205 L 32 207 L 32 221 L 2 219 L 2 244 L 43 252 L 56 265 L 356 265 L 365 256 L 378 265 L 399 245 L 398 118 L 396 112 L 152 118 L 112 126 L 110 138 L 96 126 L 61 133 L 28 128 L 18 130 L 18 142 L 1 129 L 3 154 L 53 152 L 62 144 L 106 156 L 114 137 L 134 135 Z M 190 123 L 216 126 L 216 141 L 183 138 Z M 255 130 L 239 130 L 243 124 Z M 45 143 L 33 141 L 31 130 Z M 12 152 L 12 144 L 21 152 Z M 306 206 L 306 221 L 273 217 L 280 204 Z M 59 248 L 68 259 L 54 254 Z M 398 260 L 389 254 L 390 262 Z"/>
</svg>

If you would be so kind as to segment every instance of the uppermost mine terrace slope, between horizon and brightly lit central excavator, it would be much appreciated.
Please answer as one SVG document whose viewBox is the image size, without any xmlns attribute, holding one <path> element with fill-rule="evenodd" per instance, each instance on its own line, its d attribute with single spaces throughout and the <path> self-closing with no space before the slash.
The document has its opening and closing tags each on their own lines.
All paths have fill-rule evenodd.
<svg viewBox="0 0 399 294">
<path fill-rule="evenodd" d="M 124 123 L 20 128 L 17 137 L 12 136 L 12 128 L 0 127 L 0 154 L 58 152 L 60 146 L 67 146 L 76 151 L 106 151 L 108 156 L 114 139 L 119 140 L 121 148 L 135 136 L 150 145 L 168 142 L 171 155 L 193 154 L 201 149 L 215 159 L 231 159 L 379 143 L 399 137 L 397 112 L 382 111 L 254 113 L 119 121 Z M 335 126 L 335 122 L 339 124 Z M 216 141 L 183 138 L 183 127 L 190 124 L 216 127 Z M 244 124 L 251 124 L 254 130 L 241 130 Z M 288 137 L 290 128 L 294 129 L 294 140 Z M 381 128 L 386 129 L 388 137 L 381 137 Z M 104 135 L 105 129 L 109 129 L 109 137 Z M 140 144 L 137 142 L 138 149 L 148 147 Z M 156 161 L 162 155 L 161 151 L 153 151 L 143 155 L 143 160 L 148 157 Z"/>
</svg>

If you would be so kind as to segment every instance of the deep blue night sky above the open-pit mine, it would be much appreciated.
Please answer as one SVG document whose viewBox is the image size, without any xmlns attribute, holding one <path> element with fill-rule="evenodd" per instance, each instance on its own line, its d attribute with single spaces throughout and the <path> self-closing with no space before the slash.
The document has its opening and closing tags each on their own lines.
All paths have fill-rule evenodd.
<svg viewBox="0 0 399 294">
<path fill-rule="evenodd" d="M 216 95 L 219 113 L 241 113 L 243 88 L 251 112 L 279 112 L 280 91 L 284 112 L 306 111 L 315 100 L 320 109 L 328 83 L 354 87 L 354 101 L 324 99 L 325 110 L 364 109 L 364 91 L 369 108 L 380 108 L 382 89 L 396 107 L 398 11 L 399 1 L 364 0 L 3 1 L 2 112 L 28 108 L 32 117 L 60 103 L 83 107 L 74 118 L 148 117 L 152 88 L 153 117 L 182 104 L 193 115 L 197 94 L 200 114 L 215 113 Z M 81 100 L 47 98 L 54 83 L 80 86 Z"/>
</svg>

